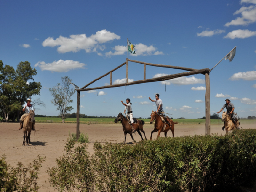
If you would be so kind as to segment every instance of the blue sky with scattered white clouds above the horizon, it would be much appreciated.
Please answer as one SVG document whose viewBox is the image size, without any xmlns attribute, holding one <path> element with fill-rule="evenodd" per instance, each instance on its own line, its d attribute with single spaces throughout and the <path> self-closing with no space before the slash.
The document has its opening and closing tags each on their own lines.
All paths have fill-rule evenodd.
<svg viewBox="0 0 256 192">
<path fill-rule="evenodd" d="M 127 38 L 136 54 L 129 59 L 187 68 L 213 68 L 235 46 L 232 62 L 222 60 L 210 72 L 211 115 L 229 98 L 240 117 L 256 116 L 256 0 L 216 1 L 0 1 L 0 60 L 16 66 L 28 61 L 41 82 L 45 108 L 58 115 L 49 88 L 68 76 L 83 87 L 125 62 Z M 147 66 L 146 78 L 185 72 Z M 125 66 L 113 72 L 125 79 Z M 129 62 L 129 79 L 143 79 L 143 65 Z M 110 76 L 90 85 L 108 85 Z M 173 118 L 205 116 L 205 76 L 81 92 L 80 113 L 116 116 L 120 100 L 130 98 L 133 116 L 147 118 L 160 94 Z M 73 96 L 76 112 L 76 93 Z"/>
</svg>

